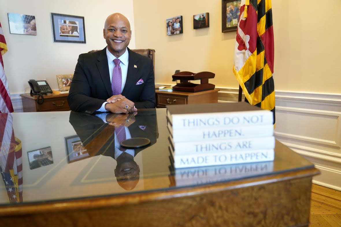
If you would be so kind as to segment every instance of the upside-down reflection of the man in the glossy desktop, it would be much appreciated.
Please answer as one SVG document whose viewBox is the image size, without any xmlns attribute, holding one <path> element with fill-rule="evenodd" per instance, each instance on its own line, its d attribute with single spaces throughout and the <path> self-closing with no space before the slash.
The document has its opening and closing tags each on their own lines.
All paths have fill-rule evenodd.
<svg viewBox="0 0 341 227">
<path fill-rule="evenodd" d="M 126 190 L 135 188 L 139 181 L 140 169 L 134 157 L 138 152 L 156 142 L 158 136 L 156 110 L 98 115 L 71 112 L 70 123 L 89 155 L 91 157 L 105 155 L 114 158 L 117 162 L 114 173 L 118 184 Z M 123 140 L 143 137 L 149 139 L 150 144 L 140 148 L 126 149 L 120 146 L 121 137 Z"/>
</svg>

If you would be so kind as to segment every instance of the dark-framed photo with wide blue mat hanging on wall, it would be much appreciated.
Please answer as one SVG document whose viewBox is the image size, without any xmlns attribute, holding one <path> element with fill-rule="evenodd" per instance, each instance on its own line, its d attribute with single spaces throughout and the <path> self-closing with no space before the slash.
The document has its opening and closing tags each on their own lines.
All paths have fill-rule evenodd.
<svg viewBox="0 0 341 227">
<path fill-rule="evenodd" d="M 86 43 L 84 17 L 51 13 L 53 42 Z"/>
</svg>

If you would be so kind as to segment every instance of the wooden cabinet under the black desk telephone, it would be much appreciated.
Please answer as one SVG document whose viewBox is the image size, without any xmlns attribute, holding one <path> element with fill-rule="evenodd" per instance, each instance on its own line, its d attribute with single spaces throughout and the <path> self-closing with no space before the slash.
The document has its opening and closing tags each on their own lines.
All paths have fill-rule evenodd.
<svg viewBox="0 0 341 227">
<path fill-rule="evenodd" d="M 68 111 L 68 94 L 44 94 L 44 102 L 37 102 L 38 95 L 20 94 L 24 112 Z"/>
</svg>

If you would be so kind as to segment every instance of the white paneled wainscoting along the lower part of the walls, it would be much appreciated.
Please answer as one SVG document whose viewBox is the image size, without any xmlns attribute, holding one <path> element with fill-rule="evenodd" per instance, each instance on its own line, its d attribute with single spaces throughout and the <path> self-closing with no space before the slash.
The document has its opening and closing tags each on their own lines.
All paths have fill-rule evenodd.
<svg viewBox="0 0 341 227">
<path fill-rule="evenodd" d="M 217 88 L 219 102 L 238 101 L 238 89 Z M 276 91 L 275 96 L 276 139 L 320 169 L 314 183 L 341 191 L 341 93 Z M 14 111 L 23 112 L 19 94 L 11 99 Z"/>
</svg>

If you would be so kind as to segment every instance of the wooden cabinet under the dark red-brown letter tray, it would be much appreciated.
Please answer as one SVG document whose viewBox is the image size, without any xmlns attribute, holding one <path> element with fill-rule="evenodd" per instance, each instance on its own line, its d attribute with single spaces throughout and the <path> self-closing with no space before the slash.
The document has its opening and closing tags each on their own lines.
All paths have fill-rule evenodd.
<svg viewBox="0 0 341 227">
<path fill-rule="evenodd" d="M 194 103 L 214 103 L 218 102 L 219 89 L 202 92 L 178 92 L 155 90 L 156 107 L 163 108 L 166 105 L 194 104 Z"/>
</svg>

